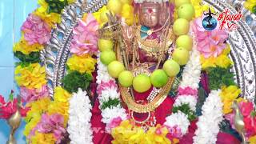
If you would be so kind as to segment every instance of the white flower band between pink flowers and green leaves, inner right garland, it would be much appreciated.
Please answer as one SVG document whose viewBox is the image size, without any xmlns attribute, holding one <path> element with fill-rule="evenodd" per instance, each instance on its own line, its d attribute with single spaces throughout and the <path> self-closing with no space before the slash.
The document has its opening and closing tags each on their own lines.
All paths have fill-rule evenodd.
<svg viewBox="0 0 256 144">
<path fill-rule="evenodd" d="M 174 102 L 174 106 L 182 106 L 182 104 L 189 104 L 190 109 L 195 111 L 197 99 L 192 95 L 179 95 Z"/>
</svg>

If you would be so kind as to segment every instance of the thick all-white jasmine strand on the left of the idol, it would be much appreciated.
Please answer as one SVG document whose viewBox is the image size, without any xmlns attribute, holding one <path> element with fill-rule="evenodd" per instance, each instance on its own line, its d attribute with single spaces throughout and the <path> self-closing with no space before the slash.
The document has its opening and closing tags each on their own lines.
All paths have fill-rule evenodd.
<svg viewBox="0 0 256 144">
<path fill-rule="evenodd" d="M 67 131 L 70 134 L 70 144 L 93 143 L 90 118 L 92 106 L 86 91 L 78 89 L 70 98 L 69 120 Z"/>
</svg>

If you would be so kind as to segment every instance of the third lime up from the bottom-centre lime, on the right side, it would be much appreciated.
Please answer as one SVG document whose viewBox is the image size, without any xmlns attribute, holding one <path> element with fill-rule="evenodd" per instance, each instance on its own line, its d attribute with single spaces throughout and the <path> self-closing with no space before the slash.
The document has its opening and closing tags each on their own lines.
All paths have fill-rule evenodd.
<svg viewBox="0 0 256 144">
<path fill-rule="evenodd" d="M 179 47 L 174 50 L 172 57 L 180 66 L 184 66 L 189 61 L 190 54 L 185 48 Z"/>
</svg>

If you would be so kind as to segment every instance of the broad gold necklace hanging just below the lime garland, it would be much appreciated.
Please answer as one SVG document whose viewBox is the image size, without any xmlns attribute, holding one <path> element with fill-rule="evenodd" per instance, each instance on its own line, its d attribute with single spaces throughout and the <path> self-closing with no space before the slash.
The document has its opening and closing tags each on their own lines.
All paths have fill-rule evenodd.
<svg viewBox="0 0 256 144">
<path fill-rule="evenodd" d="M 122 100 L 123 102 L 126 103 L 129 110 L 133 110 L 136 113 L 148 113 L 150 111 L 154 111 L 166 99 L 173 82 L 174 82 L 174 78 L 169 78 L 168 82 L 166 83 L 166 86 L 163 86 L 162 90 L 160 90 L 160 92 L 152 100 L 152 102 L 149 102 L 146 105 L 142 105 L 134 102 L 134 99 L 130 95 L 130 90 L 120 85 L 119 87 L 121 91 Z"/>
</svg>

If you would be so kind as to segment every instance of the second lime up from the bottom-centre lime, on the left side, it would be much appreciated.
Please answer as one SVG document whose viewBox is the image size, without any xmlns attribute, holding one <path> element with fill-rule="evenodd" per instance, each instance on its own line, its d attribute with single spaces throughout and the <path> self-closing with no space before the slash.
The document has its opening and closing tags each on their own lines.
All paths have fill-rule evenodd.
<svg viewBox="0 0 256 144">
<path fill-rule="evenodd" d="M 121 62 L 113 61 L 107 66 L 107 70 L 111 77 L 118 78 L 119 74 L 125 70 L 125 66 Z"/>
</svg>

